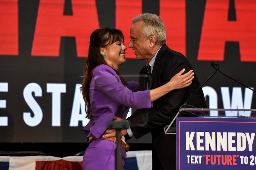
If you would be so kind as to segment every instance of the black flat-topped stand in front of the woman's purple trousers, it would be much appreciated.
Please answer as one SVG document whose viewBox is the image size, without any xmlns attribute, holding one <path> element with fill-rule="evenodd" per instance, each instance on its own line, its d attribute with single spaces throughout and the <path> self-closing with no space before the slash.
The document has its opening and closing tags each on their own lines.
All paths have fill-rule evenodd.
<svg viewBox="0 0 256 170">
<path fill-rule="evenodd" d="M 121 129 L 128 129 L 128 121 L 110 121 L 107 129 L 116 129 L 116 170 L 123 170 L 122 166 L 122 147 L 121 147 Z"/>
</svg>

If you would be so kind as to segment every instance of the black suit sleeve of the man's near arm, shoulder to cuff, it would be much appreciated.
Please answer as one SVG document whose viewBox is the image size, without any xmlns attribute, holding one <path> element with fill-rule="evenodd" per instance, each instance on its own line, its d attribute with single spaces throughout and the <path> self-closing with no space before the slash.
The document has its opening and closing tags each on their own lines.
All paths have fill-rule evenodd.
<svg viewBox="0 0 256 170">
<path fill-rule="evenodd" d="M 168 53 L 166 55 L 169 56 Z M 157 70 L 155 70 L 157 74 L 155 77 L 152 77 L 154 80 L 153 88 L 166 83 L 182 68 L 185 68 L 187 71 L 192 69 L 185 57 L 172 55 L 171 60 L 169 60 L 170 58 L 166 57 L 166 55 L 162 58 L 161 62 L 155 63 L 155 65 L 157 64 Z M 194 85 L 194 81 L 198 80 L 193 79 L 190 86 L 173 90 L 156 100 L 153 109 L 136 110 L 128 118 L 134 137 L 140 138 L 156 129 L 162 129 L 164 131 L 164 126 L 171 123 L 178 113 L 180 106 L 186 101 L 189 91 Z M 138 124 L 140 126 L 137 126 Z"/>
</svg>

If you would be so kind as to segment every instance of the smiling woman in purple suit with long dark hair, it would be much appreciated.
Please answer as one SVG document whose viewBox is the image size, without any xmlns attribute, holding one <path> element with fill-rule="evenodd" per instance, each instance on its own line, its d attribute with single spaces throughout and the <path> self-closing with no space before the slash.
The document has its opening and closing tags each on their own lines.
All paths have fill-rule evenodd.
<svg viewBox="0 0 256 170">
<path fill-rule="evenodd" d="M 153 101 L 174 89 L 187 87 L 194 78 L 192 70 L 185 69 L 176 74 L 163 86 L 145 91 L 136 91 L 139 84 L 127 82 L 118 72 L 118 66 L 125 62 L 124 35 L 120 30 L 102 28 L 92 32 L 88 58 L 85 64 L 84 81 L 81 91 L 90 122 L 83 128 L 90 142 L 83 158 L 83 170 L 114 170 L 116 142 L 121 142 L 122 165 L 126 159 L 127 145 L 102 135 L 107 123 L 116 117 L 124 117 L 129 107 L 150 108 Z M 116 138 L 115 138 L 116 139 Z M 126 149 L 126 150 L 125 150 Z"/>
</svg>

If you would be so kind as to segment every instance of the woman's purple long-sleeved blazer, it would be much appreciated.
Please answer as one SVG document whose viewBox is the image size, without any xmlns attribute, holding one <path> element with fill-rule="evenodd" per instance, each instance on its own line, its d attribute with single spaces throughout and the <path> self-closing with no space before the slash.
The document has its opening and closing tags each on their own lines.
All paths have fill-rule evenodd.
<svg viewBox="0 0 256 170">
<path fill-rule="evenodd" d="M 139 83 L 128 82 L 131 89 L 139 87 Z M 116 117 L 124 117 L 129 108 L 151 108 L 150 90 L 133 92 L 125 87 L 116 72 L 107 65 L 100 65 L 92 71 L 90 84 L 90 101 L 92 119 L 83 128 L 89 137 L 100 138 L 107 129 L 107 123 Z"/>
</svg>

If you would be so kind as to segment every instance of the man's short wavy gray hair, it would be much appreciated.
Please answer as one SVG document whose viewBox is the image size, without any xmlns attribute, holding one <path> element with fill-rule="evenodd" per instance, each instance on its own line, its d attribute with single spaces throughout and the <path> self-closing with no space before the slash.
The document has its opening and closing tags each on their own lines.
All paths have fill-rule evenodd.
<svg viewBox="0 0 256 170">
<path fill-rule="evenodd" d="M 147 39 L 148 37 L 154 35 L 156 36 L 156 44 L 163 45 L 166 43 L 166 30 L 163 20 L 156 14 L 142 13 L 134 18 L 132 18 L 132 24 L 143 21 L 143 37 Z"/>
</svg>

